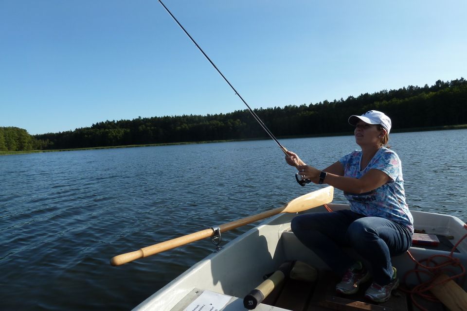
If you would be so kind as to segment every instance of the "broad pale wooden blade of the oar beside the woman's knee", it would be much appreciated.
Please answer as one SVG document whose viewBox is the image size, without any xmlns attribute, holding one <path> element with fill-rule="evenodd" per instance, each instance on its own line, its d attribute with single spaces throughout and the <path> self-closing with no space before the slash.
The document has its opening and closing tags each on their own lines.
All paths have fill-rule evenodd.
<svg viewBox="0 0 467 311">
<path fill-rule="evenodd" d="M 282 212 L 297 213 L 313 207 L 319 207 L 323 204 L 331 203 L 333 197 L 334 187 L 328 186 L 293 199 Z"/>
</svg>

